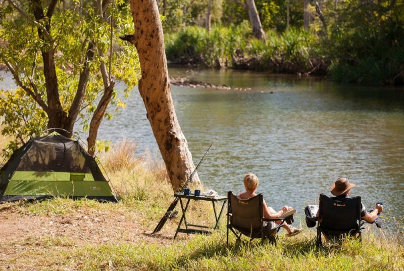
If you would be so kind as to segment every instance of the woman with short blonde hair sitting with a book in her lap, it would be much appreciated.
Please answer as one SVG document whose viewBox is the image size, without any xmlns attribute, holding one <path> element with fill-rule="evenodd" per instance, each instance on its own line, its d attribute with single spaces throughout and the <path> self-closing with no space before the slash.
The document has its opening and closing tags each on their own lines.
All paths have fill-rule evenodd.
<svg viewBox="0 0 404 271">
<path fill-rule="evenodd" d="M 237 197 L 240 200 L 247 200 L 249 198 L 257 196 L 256 191 L 258 188 L 258 177 L 255 174 L 252 174 L 252 173 L 245 174 L 245 176 L 243 178 L 243 183 L 244 183 L 245 192 L 237 195 Z M 289 211 L 291 209 L 292 209 L 292 207 L 283 206 L 281 210 L 276 212 L 273 208 L 271 208 L 270 206 L 267 206 L 267 204 L 265 204 L 265 201 L 263 201 L 263 212 L 264 212 L 264 217 L 266 217 L 266 218 L 278 218 L 279 216 L 281 216 L 282 214 L 286 213 L 287 211 Z M 280 220 L 277 221 L 278 224 L 280 222 L 281 222 Z M 270 227 L 269 229 L 272 229 L 275 227 L 275 224 L 274 224 L 274 222 L 269 222 L 266 227 Z M 282 227 L 288 232 L 286 234 L 287 237 L 297 235 L 297 234 L 301 233 L 301 231 L 302 231 L 302 229 L 296 229 L 286 223 L 284 223 L 282 225 Z"/>
</svg>

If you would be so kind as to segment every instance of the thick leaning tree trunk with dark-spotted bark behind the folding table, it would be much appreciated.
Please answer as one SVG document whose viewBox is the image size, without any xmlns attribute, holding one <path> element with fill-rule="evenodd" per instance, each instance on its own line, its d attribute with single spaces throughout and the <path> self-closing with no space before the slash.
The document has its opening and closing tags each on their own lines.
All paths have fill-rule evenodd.
<svg viewBox="0 0 404 271">
<path fill-rule="evenodd" d="M 130 0 L 130 10 L 135 33 L 121 38 L 133 43 L 139 55 L 139 93 L 171 184 L 177 191 L 195 166 L 174 110 L 157 2 Z M 194 174 L 192 182 L 199 184 L 197 174 Z"/>
</svg>

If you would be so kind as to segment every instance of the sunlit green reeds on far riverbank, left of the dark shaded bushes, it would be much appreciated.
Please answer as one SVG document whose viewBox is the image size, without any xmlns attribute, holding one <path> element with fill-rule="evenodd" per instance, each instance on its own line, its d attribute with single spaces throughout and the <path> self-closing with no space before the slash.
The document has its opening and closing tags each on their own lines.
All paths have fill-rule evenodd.
<svg viewBox="0 0 404 271">
<path fill-rule="evenodd" d="M 247 22 L 238 26 L 215 26 L 210 32 L 197 26 L 165 35 L 167 59 L 180 64 L 213 68 L 266 70 L 279 73 L 322 74 L 328 64 L 318 37 L 290 29 L 267 33 L 267 40 L 251 36 Z"/>
</svg>

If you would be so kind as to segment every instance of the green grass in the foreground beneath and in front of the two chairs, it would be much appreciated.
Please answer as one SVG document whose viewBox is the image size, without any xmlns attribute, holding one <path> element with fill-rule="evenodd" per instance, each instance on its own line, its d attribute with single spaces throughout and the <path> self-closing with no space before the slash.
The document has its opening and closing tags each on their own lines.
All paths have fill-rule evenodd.
<svg viewBox="0 0 404 271">
<path fill-rule="evenodd" d="M 362 243 L 346 240 L 341 245 L 316 249 L 309 234 L 280 238 L 271 244 L 225 242 L 225 231 L 196 235 L 169 246 L 147 243 L 117 243 L 71 247 L 61 238 L 46 240 L 25 251 L 18 259 L 40 256 L 41 270 L 59 267 L 80 270 L 402 270 L 403 251 L 389 240 L 365 237 Z M 33 255 L 35 254 L 35 255 Z M 32 264 L 32 262 L 31 262 Z M 46 266 L 49 266 L 47 268 Z"/>
</svg>

